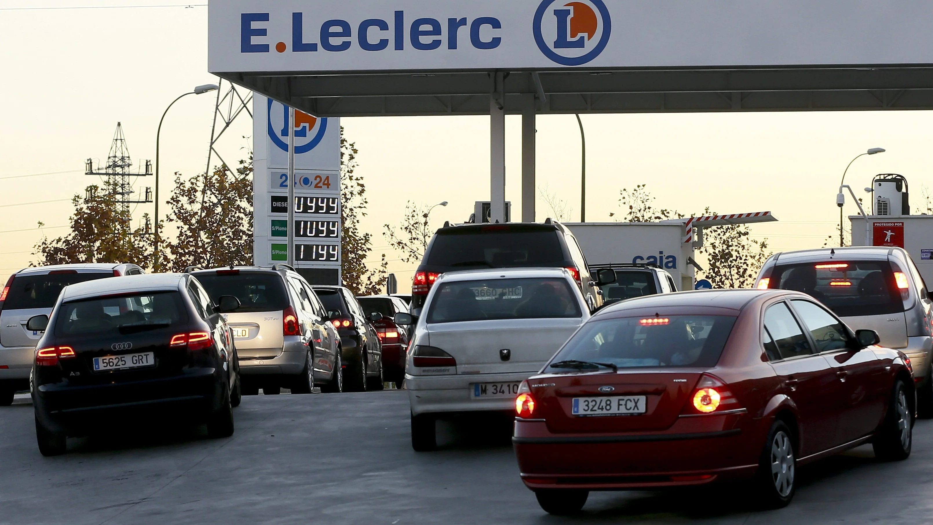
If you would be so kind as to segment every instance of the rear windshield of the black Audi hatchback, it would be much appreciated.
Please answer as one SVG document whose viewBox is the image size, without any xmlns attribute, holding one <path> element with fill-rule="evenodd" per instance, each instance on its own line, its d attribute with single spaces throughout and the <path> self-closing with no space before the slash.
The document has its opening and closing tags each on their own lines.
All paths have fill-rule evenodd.
<svg viewBox="0 0 933 525">
<path fill-rule="evenodd" d="M 55 318 L 55 335 L 125 335 L 186 323 L 178 292 L 146 292 L 64 303 Z"/>
</svg>

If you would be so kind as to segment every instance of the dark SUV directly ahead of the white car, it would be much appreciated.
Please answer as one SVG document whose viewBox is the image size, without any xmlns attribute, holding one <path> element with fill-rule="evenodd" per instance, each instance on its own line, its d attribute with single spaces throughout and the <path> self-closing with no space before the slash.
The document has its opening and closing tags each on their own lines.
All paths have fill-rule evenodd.
<svg viewBox="0 0 933 525">
<path fill-rule="evenodd" d="M 411 283 L 411 311 L 425 305 L 427 293 L 447 271 L 485 268 L 565 268 L 573 275 L 590 310 L 603 296 L 586 257 L 570 230 L 550 219 L 542 223 L 465 224 L 440 228 L 427 245 Z M 606 283 L 604 283 L 606 284 Z"/>
</svg>

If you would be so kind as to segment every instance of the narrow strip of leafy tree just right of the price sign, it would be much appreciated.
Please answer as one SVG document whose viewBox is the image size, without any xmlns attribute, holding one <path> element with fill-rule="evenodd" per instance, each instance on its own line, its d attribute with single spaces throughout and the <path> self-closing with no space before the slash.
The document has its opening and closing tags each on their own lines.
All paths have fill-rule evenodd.
<svg viewBox="0 0 933 525">
<path fill-rule="evenodd" d="M 359 221 L 366 216 L 369 200 L 363 177 L 354 172 L 358 165 L 355 143 L 343 136 L 341 127 L 341 218 L 343 221 L 341 260 L 343 285 L 356 296 L 379 294 L 383 290 L 388 262 L 385 254 L 382 262 L 373 270 L 366 266 L 366 258 L 372 251 L 372 234 L 359 229 Z"/>
</svg>

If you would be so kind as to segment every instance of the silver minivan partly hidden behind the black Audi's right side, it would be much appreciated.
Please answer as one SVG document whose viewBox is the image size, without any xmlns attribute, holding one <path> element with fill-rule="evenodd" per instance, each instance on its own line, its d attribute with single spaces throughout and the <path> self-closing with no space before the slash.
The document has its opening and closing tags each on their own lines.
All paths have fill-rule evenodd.
<svg viewBox="0 0 933 525">
<path fill-rule="evenodd" d="M 342 392 L 341 342 L 331 314 L 291 267 L 191 269 L 211 300 L 240 299 L 227 314 L 239 356 L 243 394 Z"/>
</svg>

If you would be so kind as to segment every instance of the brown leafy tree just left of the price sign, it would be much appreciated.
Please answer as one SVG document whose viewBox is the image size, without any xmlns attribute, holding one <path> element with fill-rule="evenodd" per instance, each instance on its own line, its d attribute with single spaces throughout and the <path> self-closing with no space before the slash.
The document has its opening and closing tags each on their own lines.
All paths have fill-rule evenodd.
<svg viewBox="0 0 933 525">
<path fill-rule="evenodd" d="M 252 156 L 240 161 L 236 173 L 226 165 L 209 176 L 186 179 L 175 173 L 170 212 L 163 225 L 174 225 L 177 234 L 173 240 L 161 240 L 161 269 L 253 264 L 252 175 Z"/>
</svg>

